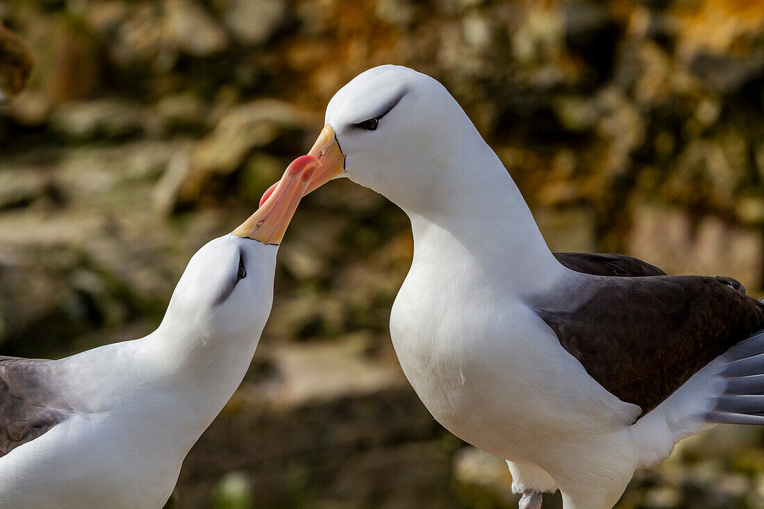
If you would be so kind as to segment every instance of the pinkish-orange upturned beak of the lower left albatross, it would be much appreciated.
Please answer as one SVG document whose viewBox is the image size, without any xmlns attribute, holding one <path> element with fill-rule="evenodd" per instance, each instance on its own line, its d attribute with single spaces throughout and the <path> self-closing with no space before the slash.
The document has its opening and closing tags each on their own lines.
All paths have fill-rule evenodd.
<svg viewBox="0 0 764 509">
<path fill-rule="evenodd" d="M 312 155 L 297 157 L 286 168 L 281 180 L 266 191 L 260 208 L 231 235 L 252 238 L 263 244 L 279 244 L 299 200 L 309 192 L 309 186 L 321 168 L 319 159 Z"/>
</svg>

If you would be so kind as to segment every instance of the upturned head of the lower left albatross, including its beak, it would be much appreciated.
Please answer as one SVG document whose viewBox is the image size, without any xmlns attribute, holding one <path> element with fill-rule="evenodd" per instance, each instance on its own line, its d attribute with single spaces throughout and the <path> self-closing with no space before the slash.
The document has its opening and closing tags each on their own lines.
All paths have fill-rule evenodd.
<svg viewBox="0 0 764 509">
<path fill-rule="evenodd" d="M 315 157 L 298 157 L 257 212 L 196 251 L 173 291 L 163 326 L 202 340 L 259 338 L 270 315 L 278 245 L 319 166 Z"/>
</svg>

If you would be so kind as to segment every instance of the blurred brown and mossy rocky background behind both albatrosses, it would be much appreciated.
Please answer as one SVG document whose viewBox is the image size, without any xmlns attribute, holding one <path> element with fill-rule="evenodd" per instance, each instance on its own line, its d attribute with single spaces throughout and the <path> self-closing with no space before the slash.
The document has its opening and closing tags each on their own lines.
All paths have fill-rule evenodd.
<svg viewBox="0 0 764 509">
<path fill-rule="evenodd" d="M 5 0 L 0 20 L 35 61 L 0 111 L 2 355 L 151 332 L 191 254 L 381 63 L 445 84 L 553 250 L 762 297 L 762 0 Z M 516 507 L 503 461 L 442 430 L 397 364 L 412 248 L 360 186 L 303 201 L 251 370 L 173 507 Z M 685 440 L 618 507 L 764 507 L 762 430 Z"/>
</svg>

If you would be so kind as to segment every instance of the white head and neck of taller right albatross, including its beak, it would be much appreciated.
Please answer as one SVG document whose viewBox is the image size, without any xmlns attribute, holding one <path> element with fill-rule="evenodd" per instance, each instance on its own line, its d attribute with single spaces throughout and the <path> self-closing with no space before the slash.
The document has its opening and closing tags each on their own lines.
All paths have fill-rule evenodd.
<svg viewBox="0 0 764 509">
<path fill-rule="evenodd" d="M 461 253 L 526 290 L 560 273 L 499 157 L 426 74 L 386 65 L 356 76 L 329 101 L 309 155 L 322 167 L 307 192 L 348 177 L 382 194 L 411 219 L 415 251 Z"/>
</svg>

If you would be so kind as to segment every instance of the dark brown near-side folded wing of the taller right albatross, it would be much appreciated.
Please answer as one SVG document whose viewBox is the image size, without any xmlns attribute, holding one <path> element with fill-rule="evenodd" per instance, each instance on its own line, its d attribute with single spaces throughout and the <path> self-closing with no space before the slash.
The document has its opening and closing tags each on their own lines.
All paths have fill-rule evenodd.
<svg viewBox="0 0 764 509">
<path fill-rule="evenodd" d="M 580 277 L 533 305 L 594 380 L 643 414 L 764 326 L 762 303 L 721 277 Z"/>
</svg>

